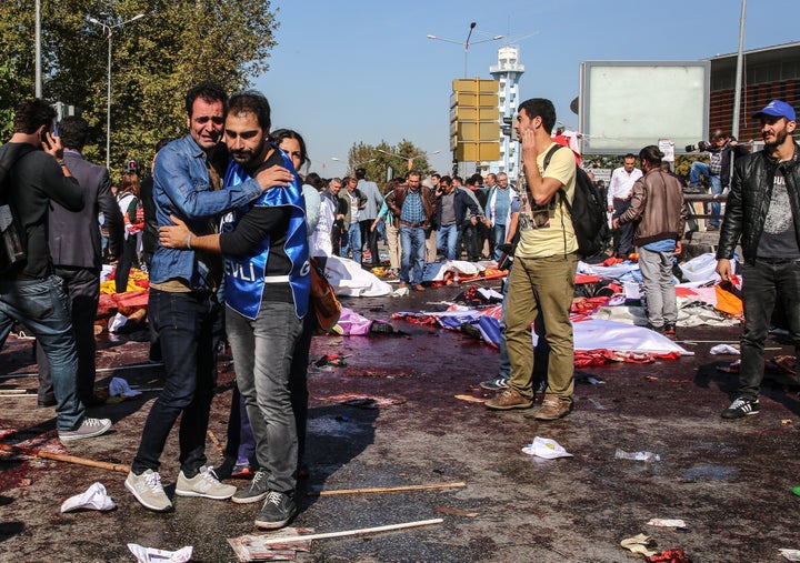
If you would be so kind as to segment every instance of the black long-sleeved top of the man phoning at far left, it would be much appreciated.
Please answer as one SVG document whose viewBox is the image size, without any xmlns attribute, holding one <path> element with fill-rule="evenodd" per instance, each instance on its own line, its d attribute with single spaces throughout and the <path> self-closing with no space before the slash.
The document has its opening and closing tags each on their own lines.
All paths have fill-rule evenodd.
<svg viewBox="0 0 800 563">
<path fill-rule="evenodd" d="M 26 143 L 6 143 L 2 149 L 19 150 L 21 144 Z M 52 273 L 48 247 L 50 200 L 69 211 L 80 211 L 83 191 L 74 178 L 63 175 L 56 159 L 42 150 L 33 150 L 11 169 L 7 197 L 26 251 L 26 260 L 16 272 L 27 278 L 47 278 Z"/>
</svg>

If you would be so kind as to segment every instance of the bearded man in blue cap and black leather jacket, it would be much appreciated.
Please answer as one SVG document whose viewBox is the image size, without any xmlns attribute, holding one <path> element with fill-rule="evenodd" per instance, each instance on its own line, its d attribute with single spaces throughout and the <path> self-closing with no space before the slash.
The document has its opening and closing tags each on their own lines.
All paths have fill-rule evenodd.
<svg viewBox="0 0 800 563">
<path fill-rule="evenodd" d="M 744 332 L 739 391 L 723 419 L 759 413 L 764 339 L 778 298 L 796 349 L 800 349 L 800 151 L 792 139 L 794 108 L 772 100 L 753 114 L 764 149 L 734 163 L 717 250 L 717 273 L 731 279 L 731 258 L 741 238 Z"/>
</svg>

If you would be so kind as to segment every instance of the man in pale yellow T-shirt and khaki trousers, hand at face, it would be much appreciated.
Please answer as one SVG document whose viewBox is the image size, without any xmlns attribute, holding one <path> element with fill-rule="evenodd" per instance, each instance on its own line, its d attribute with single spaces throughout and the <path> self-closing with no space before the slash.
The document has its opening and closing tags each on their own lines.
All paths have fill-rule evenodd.
<svg viewBox="0 0 800 563">
<path fill-rule="evenodd" d="M 524 182 L 519 187 L 520 241 L 509 275 L 506 310 L 511 379 L 508 389 L 486 403 L 491 410 L 532 406 L 531 324 L 541 311 L 550 344 L 548 386 L 534 414 L 541 421 L 566 416 L 572 409 L 574 389 L 569 312 L 578 264 L 578 237 L 570 217 L 577 169 L 571 151 L 551 152 L 554 124 L 556 109 L 550 100 L 533 98 L 520 104 L 516 130 L 522 145 Z"/>
</svg>

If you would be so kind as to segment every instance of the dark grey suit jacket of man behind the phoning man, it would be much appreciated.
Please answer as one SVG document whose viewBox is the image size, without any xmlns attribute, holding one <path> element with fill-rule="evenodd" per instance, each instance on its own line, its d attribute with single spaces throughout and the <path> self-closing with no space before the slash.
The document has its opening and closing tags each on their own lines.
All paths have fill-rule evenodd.
<svg viewBox="0 0 800 563">
<path fill-rule="evenodd" d="M 69 211 L 56 202 L 50 205 L 50 255 L 56 265 L 91 268 L 102 265 L 98 213 L 104 217 L 109 253 L 122 250 L 123 223 L 106 167 L 83 160 L 76 151 L 64 151 L 67 168 L 83 191 L 83 209 Z"/>
</svg>

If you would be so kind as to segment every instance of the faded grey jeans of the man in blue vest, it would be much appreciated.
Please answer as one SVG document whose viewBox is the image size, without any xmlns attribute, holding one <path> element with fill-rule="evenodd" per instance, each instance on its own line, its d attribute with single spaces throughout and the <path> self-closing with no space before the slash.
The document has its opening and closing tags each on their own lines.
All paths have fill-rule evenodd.
<svg viewBox="0 0 800 563">
<path fill-rule="evenodd" d="M 358 223 L 356 223 L 358 227 Z M 253 321 L 226 314 L 237 385 L 256 436 L 256 459 L 272 491 L 293 493 L 298 438 L 289 391 L 292 355 L 302 333 L 293 303 L 261 302 Z"/>
</svg>

